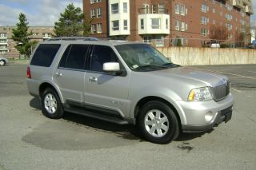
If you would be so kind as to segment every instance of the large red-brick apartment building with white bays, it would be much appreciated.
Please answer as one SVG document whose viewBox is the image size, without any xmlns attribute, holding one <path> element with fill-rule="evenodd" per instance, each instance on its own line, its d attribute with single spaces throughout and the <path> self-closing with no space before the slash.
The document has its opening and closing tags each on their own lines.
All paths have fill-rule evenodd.
<svg viewBox="0 0 256 170">
<path fill-rule="evenodd" d="M 228 41 L 238 34 L 250 41 L 251 0 L 83 0 L 91 34 L 126 38 L 156 45 L 200 46 L 210 40 L 210 28 L 226 26 Z M 167 41 L 166 41 L 167 40 Z"/>
</svg>

